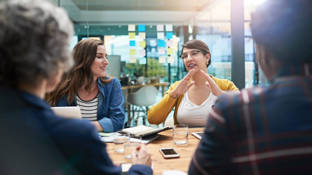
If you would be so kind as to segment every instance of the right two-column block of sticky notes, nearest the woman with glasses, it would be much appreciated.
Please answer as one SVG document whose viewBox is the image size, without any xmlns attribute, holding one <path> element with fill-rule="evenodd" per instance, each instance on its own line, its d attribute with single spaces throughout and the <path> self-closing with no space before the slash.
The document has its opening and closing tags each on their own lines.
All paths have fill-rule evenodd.
<svg viewBox="0 0 312 175">
<path fill-rule="evenodd" d="M 159 63 L 174 63 L 173 26 L 158 24 L 156 30 Z"/>
</svg>

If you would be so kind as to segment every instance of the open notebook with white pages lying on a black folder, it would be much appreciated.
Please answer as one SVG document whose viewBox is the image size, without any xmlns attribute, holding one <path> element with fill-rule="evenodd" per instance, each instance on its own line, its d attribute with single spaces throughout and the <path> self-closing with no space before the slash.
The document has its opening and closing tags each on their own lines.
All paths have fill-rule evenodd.
<svg viewBox="0 0 312 175">
<path fill-rule="evenodd" d="M 149 127 L 149 126 L 139 125 L 139 126 L 134 126 L 131 128 L 125 128 L 122 131 L 129 133 L 131 135 L 145 136 L 145 135 L 150 135 L 151 133 L 157 134 L 158 132 L 168 130 L 168 129 L 170 129 L 170 128 L 169 127 L 153 128 L 153 127 Z"/>
</svg>

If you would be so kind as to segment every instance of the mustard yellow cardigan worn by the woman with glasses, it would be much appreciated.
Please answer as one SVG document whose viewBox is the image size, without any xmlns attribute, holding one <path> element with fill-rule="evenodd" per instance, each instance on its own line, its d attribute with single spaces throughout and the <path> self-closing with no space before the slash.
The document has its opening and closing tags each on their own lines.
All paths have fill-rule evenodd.
<svg viewBox="0 0 312 175">
<path fill-rule="evenodd" d="M 211 75 L 210 75 L 211 76 Z M 238 88 L 234 85 L 233 82 L 231 82 L 228 79 L 220 79 L 211 76 L 212 79 L 217 83 L 217 85 L 220 87 L 222 91 L 238 91 Z M 191 81 L 190 81 L 191 82 Z M 163 96 L 163 98 L 158 102 L 156 105 L 152 106 L 148 113 L 147 113 L 147 120 L 150 124 L 153 125 L 159 125 L 163 123 L 169 113 L 172 111 L 173 107 L 175 107 L 174 113 L 173 113 L 173 120 L 174 125 L 178 125 L 177 120 L 177 113 L 178 108 L 182 102 L 182 99 L 184 97 L 184 94 L 179 95 L 177 98 L 173 99 L 170 97 L 169 93 L 177 87 L 177 85 L 180 83 L 180 81 L 176 81 L 173 83 L 169 89 L 167 90 L 166 94 Z"/>
</svg>

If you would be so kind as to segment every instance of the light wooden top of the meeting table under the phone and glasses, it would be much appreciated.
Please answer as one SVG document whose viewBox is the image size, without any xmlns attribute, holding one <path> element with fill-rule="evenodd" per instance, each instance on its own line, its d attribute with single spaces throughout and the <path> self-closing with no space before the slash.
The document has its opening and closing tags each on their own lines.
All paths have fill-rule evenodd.
<svg viewBox="0 0 312 175">
<path fill-rule="evenodd" d="M 164 170 L 180 170 L 188 172 L 193 154 L 199 143 L 199 139 L 193 136 L 192 132 L 202 132 L 204 128 L 189 128 L 188 129 L 188 144 L 176 145 L 172 140 L 172 129 L 158 133 L 160 136 L 146 145 L 146 149 L 152 154 L 152 161 L 154 163 L 153 174 L 161 175 Z M 113 147 L 113 143 L 106 143 L 108 148 Z M 159 152 L 159 148 L 173 147 L 180 158 L 165 159 Z M 126 160 L 124 154 L 115 153 L 114 149 L 107 150 L 110 158 L 114 164 L 117 163 L 131 163 L 130 160 Z"/>
</svg>

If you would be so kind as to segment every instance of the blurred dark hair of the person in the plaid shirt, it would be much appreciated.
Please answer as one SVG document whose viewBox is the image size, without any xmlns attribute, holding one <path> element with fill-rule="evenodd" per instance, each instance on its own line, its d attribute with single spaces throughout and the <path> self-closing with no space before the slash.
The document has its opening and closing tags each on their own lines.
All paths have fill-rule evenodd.
<svg viewBox="0 0 312 175">
<path fill-rule="evenodd" d="M 283 64 L 312 62 L 312 1 L 268 0 L 251 14 L 251 32 Z"/>
</svg>

